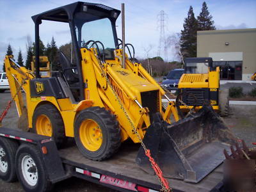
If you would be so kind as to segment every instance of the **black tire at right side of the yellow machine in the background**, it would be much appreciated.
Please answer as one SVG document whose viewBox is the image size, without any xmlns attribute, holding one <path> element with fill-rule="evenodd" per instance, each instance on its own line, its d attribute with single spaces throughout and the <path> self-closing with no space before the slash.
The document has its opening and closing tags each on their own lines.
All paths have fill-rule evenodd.
<svg viewBox="0 0 256 192">
<path fill-rule="evenodd" d="M 228 88 L 220 88 L 219 89 L 219 108 L 220 108 L 220 116 L 228 116 L 229 115 L 229 89 Z"/>
</svg>

